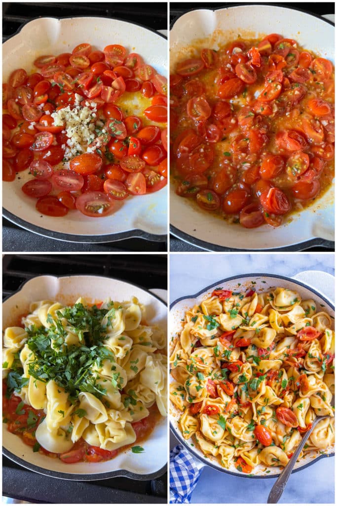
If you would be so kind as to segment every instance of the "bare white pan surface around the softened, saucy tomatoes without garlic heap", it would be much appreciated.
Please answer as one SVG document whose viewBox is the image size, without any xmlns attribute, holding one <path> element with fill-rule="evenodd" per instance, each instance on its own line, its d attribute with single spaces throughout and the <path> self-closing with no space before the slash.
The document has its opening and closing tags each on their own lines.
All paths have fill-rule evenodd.
<svg viewBox="0 0 337 506">
<path fill-rule="evenodd" d="M 301 46 L 334 61 L 334 27 L 323 19 L 284 7 L 249 5 L 196 10 L 181 16 L 170 32 L 170 71 L 177 61 L 193 54 L 193 44 L 200 49 L 217 49 L 238 35 L 259 37 L 271 32 L 295 38 Z M 251 230 L 203 212 L 190 199 L 177 196 L 171 186 L 170 223 L 177 229 L 175 233 L 188 234 L 197 244 L 198 240 L 210 243 L 204 246 L 209 249 L 212 244 L 254 250 L 291 246 L 316 237 L 334 240 L 333 186 L 308 209 L 293 215 L 291 223 Z"/>
</svg>

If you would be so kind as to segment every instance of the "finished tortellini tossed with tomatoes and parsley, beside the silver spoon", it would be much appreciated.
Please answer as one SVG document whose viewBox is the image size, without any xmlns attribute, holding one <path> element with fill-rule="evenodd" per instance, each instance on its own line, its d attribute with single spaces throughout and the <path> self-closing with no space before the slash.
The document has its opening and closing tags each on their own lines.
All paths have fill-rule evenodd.
<svg viewBox="0 0 337 506">
<path fill-rule="evenodd" d="M 286 466 L 318 415 L 334 415 L 334 332 L 314 300 L 276 287 L 216 289 L 172 340 L 170 400 L 179 429 L 225 468 Z M 303 453 L 334 440 L 321 420 Z M 303 455 L 302 453 L 302 455 Z"/>
</svg>

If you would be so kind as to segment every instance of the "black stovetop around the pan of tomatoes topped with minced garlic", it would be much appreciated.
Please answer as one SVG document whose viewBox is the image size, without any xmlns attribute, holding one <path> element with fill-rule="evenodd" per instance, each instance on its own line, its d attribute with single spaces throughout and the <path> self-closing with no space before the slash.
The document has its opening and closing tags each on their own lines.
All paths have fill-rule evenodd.
<svg viewBox="0 0 337 506">
<path fill-rule="evenodd" d="M 36 17 L 103 16 L 139 23 L 153 30 L 167 29 L 166 3 L 3 3 L 3 41 Z M 99 244 L 82 244 L 42 237 L 3 220 L 4 251 L 167 251 L 167 242 L 130 238 Z"/>
</svg>

